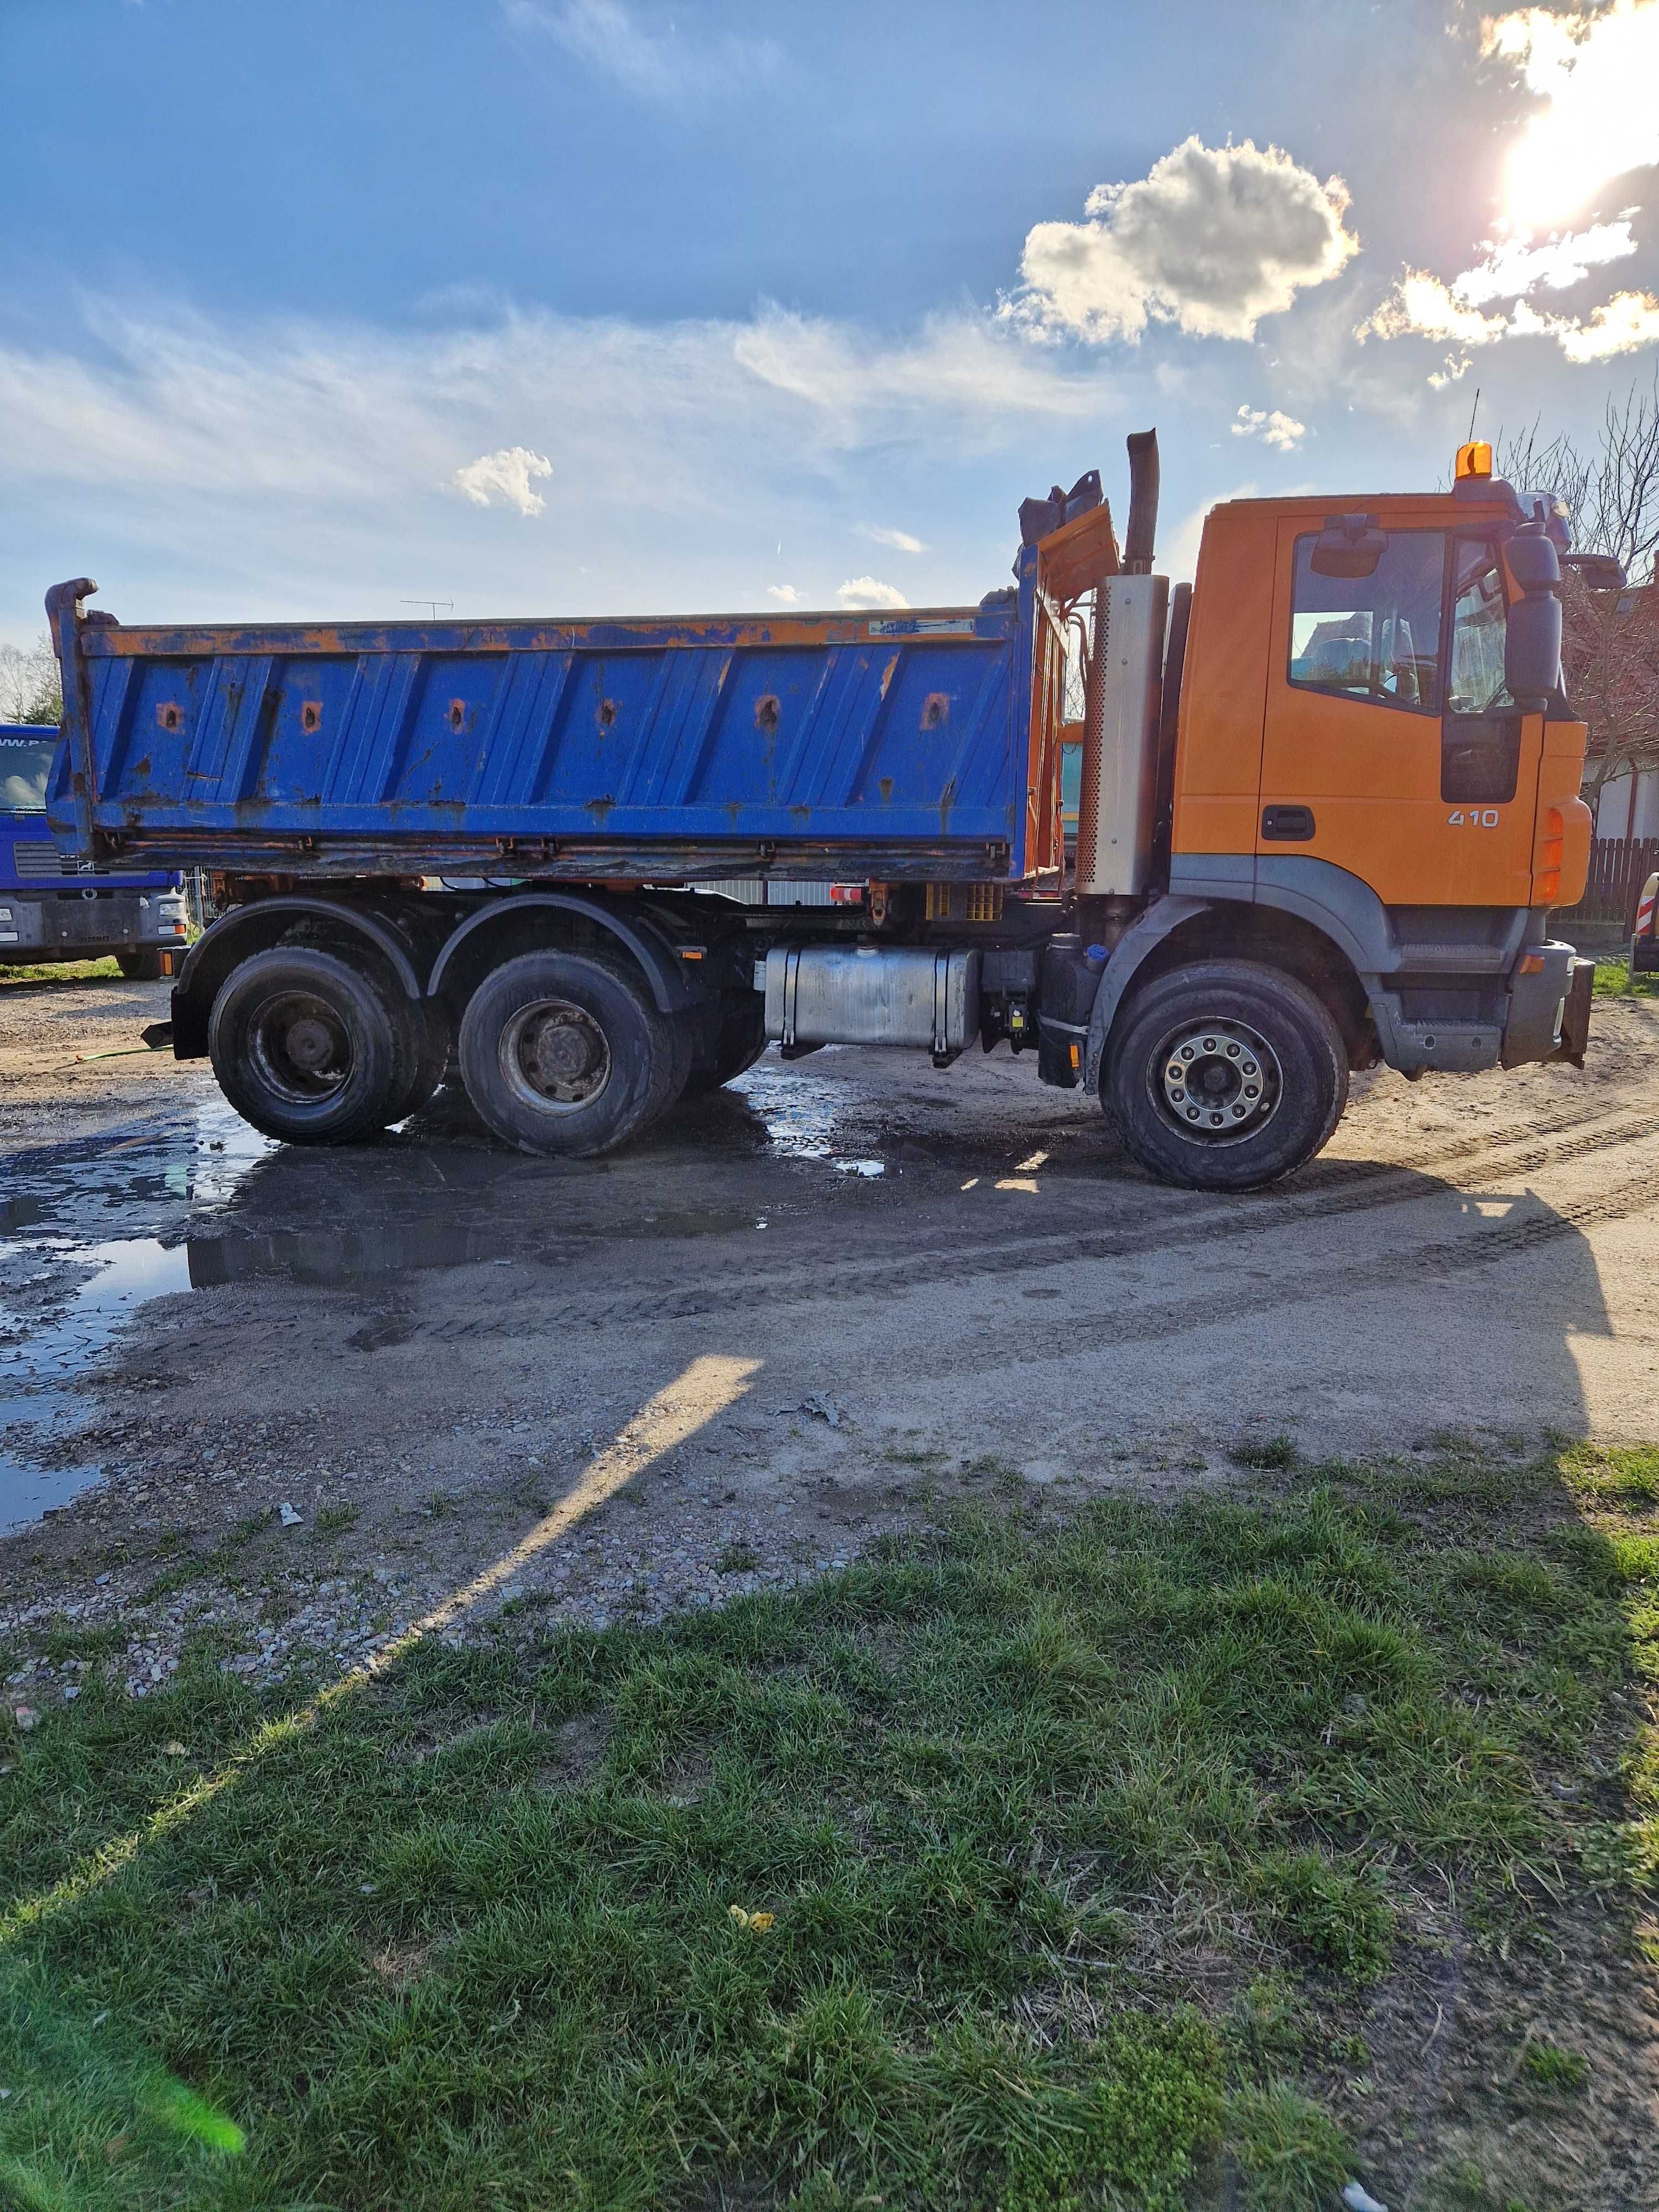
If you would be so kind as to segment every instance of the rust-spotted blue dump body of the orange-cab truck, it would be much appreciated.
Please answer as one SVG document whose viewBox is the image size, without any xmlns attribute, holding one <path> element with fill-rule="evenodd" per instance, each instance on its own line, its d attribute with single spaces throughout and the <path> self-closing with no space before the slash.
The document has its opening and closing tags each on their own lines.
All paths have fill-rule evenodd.
<svg viewBox="0 0 1659 2212">
<path fill-rule="evenodd" d="M 1057 860 L 1035 549 L 989 604 L 856 615 L 124 628 L 77 611 L 93 588 L 53 595 L 66 852 L 659 883 Z"/>
</svg>

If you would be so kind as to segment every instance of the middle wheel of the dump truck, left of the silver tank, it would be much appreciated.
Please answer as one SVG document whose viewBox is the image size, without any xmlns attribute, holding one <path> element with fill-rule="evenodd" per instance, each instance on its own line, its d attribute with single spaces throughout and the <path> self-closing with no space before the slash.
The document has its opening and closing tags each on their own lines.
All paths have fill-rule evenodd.
<svg viewBox="0 0 1659 2212">
<path fill-rule="evenodd" d="M 522 1152 L 611 1152 L 668 1113 L 688 1071 L 686 1024 L 604 953 L 520 953 L 484 975 L 460 1022 L 467 1097 Z"/>
</svg>

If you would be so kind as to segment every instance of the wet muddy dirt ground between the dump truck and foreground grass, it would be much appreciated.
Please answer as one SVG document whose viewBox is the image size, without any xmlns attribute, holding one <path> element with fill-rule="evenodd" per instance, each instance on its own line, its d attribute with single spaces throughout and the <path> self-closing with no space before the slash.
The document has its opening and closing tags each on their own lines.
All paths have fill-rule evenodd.
<svg viewBox="0 0 1659 2212">
<path fill-rule="evenodd" d="M 741 1363 L 730 1405 L 538 1555 L 555 1613 L 790 1579 L 925 1484 L 1659 1425 L 1655 1002 L 1599 1002 L 1582 1073 L 1358 1077 L 1325 1157 L 1243 1199 L 1150 1183 L 1006 1051 L 768 1055 L 593 1164 L 500 1150 L 449 1091 L 374 1148 L 283 1148 L 204 1062 L 75 1064 L 164 1009 L 166 984 L 0 995 L 0 1526 L 62 1509 L 0 1546 L 4 1613 L 119 1601 L 137 1630 L 126 1575 L 40 1566 L 288 1506 L 261 1544 L 303 1601 L 250 1663 L 356 1650 L 699 1358 Z M 139 1677 L 184 1610 L 144 1621 Z"/>
</svg>

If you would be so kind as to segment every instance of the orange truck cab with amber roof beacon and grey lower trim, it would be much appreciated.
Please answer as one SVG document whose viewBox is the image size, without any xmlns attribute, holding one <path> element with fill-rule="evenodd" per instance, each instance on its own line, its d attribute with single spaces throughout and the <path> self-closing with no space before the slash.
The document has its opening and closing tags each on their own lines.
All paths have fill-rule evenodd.
<svg viewBox="0 0 1659 2212">
<path fill-rule="evenodd" d="M 1444 493 L 1212 509 L 1190 608 L 1177 593 L 1183 650 L 1172 619 L 1161 670 L 1157 604 L 1146 626 L 1170 759 L 1168 858 L 1155 843 L 1141 883 L 1091 854 L 1084 723 L 1077 889 L 1108 953 L 1084 1082 L 1110 1088 L 1126 995 L 1217 960 L 1298 980 L 1349 1068 L 1582 1064 L 1593 964 L 1548 931 L 1590 849 L 1586 728 L 1559 679 L 1562 562 L 1559 502 L 1495 480 L 1484 447 L 1458 456 Z M 1133 599 L 1159 586 L 1102 586 L 1108 757 L 1124 721 L 1110 690 L 1141 684 Z M 1210 1119 L 1186 1079 L 1128 1057 L 1166 1124 Z"/>
</svg>

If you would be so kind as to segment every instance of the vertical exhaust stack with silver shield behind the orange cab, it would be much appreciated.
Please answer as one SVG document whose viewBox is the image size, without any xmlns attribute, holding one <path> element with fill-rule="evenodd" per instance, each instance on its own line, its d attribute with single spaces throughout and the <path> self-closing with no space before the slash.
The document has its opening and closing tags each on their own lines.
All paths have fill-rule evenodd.
<svg viewBox="0 0 1659 2212">
<path fill-rule="evenodd" d="M 1128 526 L 1117 575 L 1095 591 L 1095 648 L 1084 688 L 1084 787 L 1077 896 L 1135 898 L 1152 876 L 1157 728 L 1168 577 L 1152 575 L 1157 431 L 1128 440 Z"/>
</svg>

